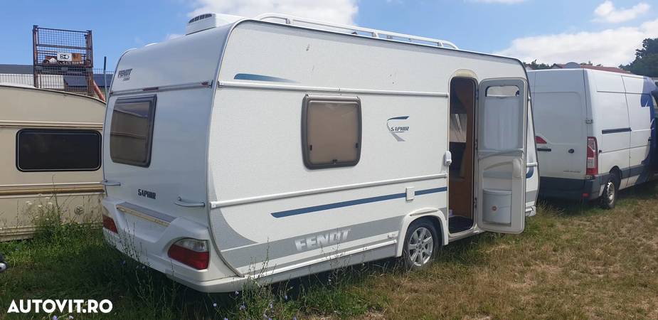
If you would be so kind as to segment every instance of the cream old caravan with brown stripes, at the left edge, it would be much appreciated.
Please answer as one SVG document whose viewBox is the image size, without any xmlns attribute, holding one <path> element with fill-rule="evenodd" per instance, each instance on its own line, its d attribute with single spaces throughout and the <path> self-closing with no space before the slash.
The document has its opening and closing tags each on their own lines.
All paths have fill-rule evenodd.
<svg viewBox="0 0 658 320">
<path fill-rule="evenodd" d="M 0 84 L 0 240 L 30 238 L 57 207 L 100 222 L 104 116 L 92 97 Z"/>
</svg>

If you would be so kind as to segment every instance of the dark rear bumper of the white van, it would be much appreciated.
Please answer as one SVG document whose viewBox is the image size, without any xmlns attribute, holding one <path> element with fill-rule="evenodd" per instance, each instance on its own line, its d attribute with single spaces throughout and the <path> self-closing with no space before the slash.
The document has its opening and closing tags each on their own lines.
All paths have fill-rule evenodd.
<svg viewBox="0 0 658 320">
<path fill-rule="evenodd" d="M 601 194 L 603 181 L 608 174 L 600 174 L 589 179 L 539 178 L 539 196 L 541 198 L 559 198 L 566 200 L 594 200 Z"/>
</svg>

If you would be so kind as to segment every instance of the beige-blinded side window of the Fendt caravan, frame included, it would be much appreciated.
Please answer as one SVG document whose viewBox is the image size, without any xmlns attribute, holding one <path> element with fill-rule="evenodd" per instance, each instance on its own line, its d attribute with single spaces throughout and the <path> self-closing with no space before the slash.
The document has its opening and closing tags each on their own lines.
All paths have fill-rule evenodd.
<svg viewBox="0 0 658 320">
<path fill-rule="evenodd" d="M 356 165 L 361 154 L 359 98 L 305 97 L 302 139 L 309 169 Z"/>
</svg>

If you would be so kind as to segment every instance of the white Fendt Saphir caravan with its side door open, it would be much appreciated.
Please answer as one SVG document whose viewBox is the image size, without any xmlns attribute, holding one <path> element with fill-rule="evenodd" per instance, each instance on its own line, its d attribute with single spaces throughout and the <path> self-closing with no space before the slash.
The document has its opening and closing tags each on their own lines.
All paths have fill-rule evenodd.
<svg viewBox="0 0 658 320">
<path fill-rule="evenodd" d="M 422 267 L 453 240 L 524 230 L 538 175 L 519 60 L 217 18 L 117 65 L 103 219 L 119 250 L 224 292 L 385 257 Z"/>
</svg>

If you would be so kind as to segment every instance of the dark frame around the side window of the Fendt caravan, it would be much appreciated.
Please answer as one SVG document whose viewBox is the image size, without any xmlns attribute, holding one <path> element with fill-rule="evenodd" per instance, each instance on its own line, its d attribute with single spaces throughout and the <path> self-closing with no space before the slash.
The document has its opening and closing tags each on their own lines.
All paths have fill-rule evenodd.
<svg viewBox="0 0 658 320">
<path fill-rule="evenodd" d="M 312 102 L 351 102 L 356 103 L 356 114 L 359 128 L 357 132 L 359 134 L 358 144 L 356 152 L 356 159 L 353 161 L 339 161 L 336 163 L 326 163 L 326 164 L 313 164 L 311 162 L 309 150 L 308 150 L 308 109 L 309 105 Z M 327 96 L 327 95 L 305 95 L 304 100 L 302 101 L 302 159 L 304 160 L 304 166 L 307 169 L 316 170 L 316 169 L 328 169 L 328 168 L 341 168 L 346 166 L 356 166 L 361 160 L 361 139 L 363 138 L 363 118 L 361 114 L 361 99 L 359 97 L 349 97 L 349 96 Z"/>
</svg>

